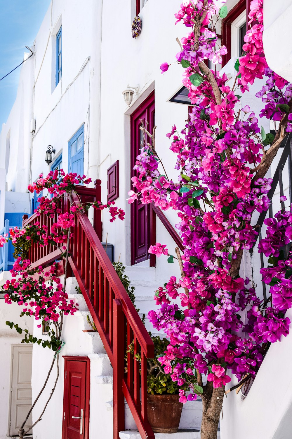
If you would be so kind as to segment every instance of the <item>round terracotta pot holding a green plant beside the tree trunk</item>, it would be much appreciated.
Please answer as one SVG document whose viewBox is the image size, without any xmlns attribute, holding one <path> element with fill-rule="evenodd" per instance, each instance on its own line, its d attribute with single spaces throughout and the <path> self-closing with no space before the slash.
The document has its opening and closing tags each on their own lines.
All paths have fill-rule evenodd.
<svg viewBox="0 0 292 439">
<path fill-rule="evenodd" d="M 176 433 L 183 410 L 179 395 L 147 395 L 148 421 L 155 433 Z"/>
</svg>

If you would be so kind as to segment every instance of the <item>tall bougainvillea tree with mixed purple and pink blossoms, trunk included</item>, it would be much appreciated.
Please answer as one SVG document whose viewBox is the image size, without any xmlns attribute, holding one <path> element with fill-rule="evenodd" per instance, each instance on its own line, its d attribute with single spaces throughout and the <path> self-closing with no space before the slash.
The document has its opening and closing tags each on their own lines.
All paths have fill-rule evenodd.
<svg viewBox="0 0 292 439">
<path fill-rule="evenodd" d="M 144 137 L 134 168 L 137 176 L 132 178 L 136 192 L 129 192 L 130 203 L 152 202 L 162 210 L 175 210 L 179 217 L 176 227 L 185 247 L 181 256 L 176 249 L 181 277 L 172 276 L 158 288 L 155 300 L 160 308 L 150 311 L 148 318 L 169 339 L 162 366 L 169 372 L 172 361 L 178 361 L 171 374 L 181 386 L 180 400 L 202 397 L 202 439 L 217 437 L 230 372 L 239 385 L 257 374 L 269 345 L 288 334 L 285 311 L 292 306 L 292 253 L 285 257 L 281 251 L 292 240 L 290 210 L 265 220 L 267 236 L 258 245 L 269 258 L 260 270 L 271 287 L 267 301 L 252 280 L 239 275 L 243 252 L 258 236 L 253 213 L 267 211 L 270 203 L 272 180 L 266 177 L 267 170 L 286 133 L 292 131 L 292 85 L 267 65 L 262 0 L 251 1 L 236 77 L 220 73 L 218 64 L 226 48 L 219 44 L 215 26 L 228 11 L 216 3 L 185 2 L 176 14 L 177 22 L 189 30 L 176 62 L 184 68 L 183 84 L 193 105 L 183 130 L 173 126 L 167 134 L 179 177 L 172 180 L 166 175 L 155 148 Z M 169 65 L 161 65 L 162 73 Z M 260 83 L 256 96 L 263 102 L 260 118 L 275 122 L 275 135 L 264 132 L 248 105 L 241 108 L 240 97 L 256 79 L 262 79 L 255 83 Z M 156 243 L 149 252 L 168 255 L 173 262 L 166 245 Z M 202 375 L 207 375 L 206 384 Z M 203 389 L 201 394 L 196 385 Z"/>
</svg>

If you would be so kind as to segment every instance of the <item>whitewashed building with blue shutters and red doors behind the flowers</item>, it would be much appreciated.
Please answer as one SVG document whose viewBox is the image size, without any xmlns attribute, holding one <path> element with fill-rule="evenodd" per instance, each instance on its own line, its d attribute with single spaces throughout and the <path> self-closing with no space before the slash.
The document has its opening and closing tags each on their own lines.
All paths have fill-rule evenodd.
<svg viewBox="0 0 292 439">
<path fill-rule="evenodd" d="M 103 211 L 103 241 L 107 239 L 107 242 L 113 243 L 114 261 L 120 259 L 127 266 L 127 274 L 136 287 L 137 307 L 141 313 L 147 313 L 155 307 L 153 291 L 171 275 L 179 276 L 179 270 L 176 266 L 165 264 L 165 259 L 162 258 L 156 260 L 156 267 L 150 266 L 153 264 L 148 259 L 148 247 L 153 235 L 149 208 L 137 208 L 127 203 L 130 178 L 133 175 L 131 169 L 140 139 L 139 119 L 147 119 L 152 128 L 154 124 L 157 126 L 156 149 L 158 155 L 165 158 L 167 172 L 173 175 L 175 158 L 169 151 L 169 140 L 165 133 L 169 132 L 174 123 L 183 128 L 184 121 L 188 118 L 188 106 L 186 96 L 181 90 L 181 66 L 171 65 L 164 75 L 159 70 L 162 62 L 175 61 L 175 54 L 179 51 L 176 38 L 181 38 L 186 33 L 182 25 L 174 25 L 174 14 L 179 9 L 180 2 L 169 0 L 167 6 L 165 2 L 157 0 L 140 0 L 140 3 L 136 0 L 52 0 L 32 47 L 34 55 L 21 68 L 17 98 L 0 134 L 0 154 L 5 157 L 2 160 L 2 163 L 5 162 L 5 169 L 0 169 L 0 228 L 4 227 L 4 219 L 13 221 L 17 218 L 19 221 L 21 214 L 33 212 L 37 197 L 28 194 L 26 187 L 38 178 L 39 173 L 46 175 L 50 169 L 59 167 L 65 171 L 76 170 L 84 173 L 92 181 L 100 179 L 104 202 L 108 198 L 107 181 L 108 174 L 111 174 L 109 196 L 116 199 L 116 204 L 125 210 L 126 216 L 123 222 L 110 223 L 108 213 Z M 229 15 L 225 18 L 224 25 L 218 23 L 218 34 L 222 33 L 223 43 L 230 47 L 231 59 L 225 59 L 223 68 L 232 76 L 235 74 L 234 64 L 239 56 L 246 23 L 246 0 L 228 0 L 226 5 Z M 131 23 L 138 12 L 142 19 L 142 32 L 137 39 L 132 39 Z M 138 87 L 129 107 L 122 95 L 123 90 L 128 88 L 127 84 Z M 260 103 L 254 95 L 260 87 L 261 82 L 256 81 L 250 94 L 243 100 L 243 105 L 248 103 L 257 114 Z M 269 124 L 266 123 L 264 128 L 268 132 Z M 45 162 L 48 145 L 52 145 L 55 151 L 49 165 Z M 274 173 L 274 169 L 271 173 Z M 176 224 L 177 219 L 173 212 L 167 212 L 167 218 L 173 226 Z M 156 220 L 155 232 L 159 238 L 157 240 L 167 244 L 169 251 L 173 252 L 176 247 L 173 235 L 169 234 L 159 218 Z M 243 270 L 249 277 L 252 276 L 251 265 L 250 256 L 246 255 Z M 253 266 L 260 266 L 257 256 L 253 260 Z M 255 281 L 260 285 L 259 278 L 256 277 Z M 67 356 L 66 362 L 76 363 L 81 369 L 83 367 L 82 374 L 87 380 L 85 385 L 88 391 L 84 397 L 86 425 L 84 424 L 80 437 L 94 439 L 100 436 L 109 439 L 113 437 L 113 369 L 99 335 L 82 332 L 88 328 L 88 306 L 82 296 L 76 294 L 75 286 L 77 281 L 71 278 L 67 289 L 80 306 L 74 317 L 65 318 L 63 339 L 66 344 L 62 349 L 62 356 Z M 149 324 L 147 327 L 151 329 Z M 0 327 L 0 337 L 1 333 Z M 34 334 L 41 336 L 41 329 L 36 325 Z M 288 343 L 289 337 L 284 342 Z M 17 340 L 10 341 L 9 344 L 16 345 Z M 283 348 L 279 343 L 273 346 L 267 361 L 264 361 L 263 369 L 267 367 L 268 371 L 273 370 L 273 358 L 278 355 L 274 351 L 280 349 L 284 352 Z M 269 357 L 273 358 L 267 366 Z M 32 398 L 42 386 L 51 359 L 52 352 L 48 349 L 33 347 Z M 8 374 L 11 367 L 8 356 L 6 361 Z M 285 364 L 288 370 L 288 359 Z M 64 368 L 62 358 L 56 391 L 42 421 L 33 429 L 34 439 L 65 439 L 64 432 L 67 431 L 70 420 L 67 409 L 63 409 L 63 398 L 67 401 L 69 395 L 66 394 L 69 390 Z M 268 373 L 267 375 L 263 372 L 266 380 L 262 380 L 263 384 L 260 382 L 257 385 L 257 380 L 255 381 L 244 401 L 240 394 L 236 395 L 234 392 L 228 396 L 223 408 L 222 438 L 290 437 L 286 432 L 272 435 L 272 429 L 269 429 L 270 417 L 264 408 L 271 401 L 266 396 L 272 376 Z M 259 377 L 258 381 L 261 379 Z M 53 381 L 52 376 L 47 389 L 52 388 Z M 283 380 L 283 392 L 286 389 L 285 384 Z M 257 391 L 253 392 L 254 389 Z M 1 402 L 5 397 L 8 398 L 8 390 L 8 387 L 4 389 Z M 292 392 L 290 393 L 292 396 Z M 33 421 L 38 418 L 46 396 L 47 394 L 42 395 L 33 410 Z M 273 401 L 275 400 L 273 393 Z M 281 400 L 284 404 L 283 400 L 284 396 Z M 125 407 L 125 428 L 133 431 L 121 433 L 120 437 L 140 438 L 135 432 L 137 427 L 131 410 L 127 404 Z M 271 407 L 272 405 L 269 410 Z M 288 408 L 288 405 L 285 407 Z M 4 426 L 0 434 L 12 434 L 6 428 L 9 424 L 7 410 L 0 410 L 0 416 L 1 428 Z M 261 417 L 260 423 L 258 417 Z M 260 430 L 264 427 L 251 429 L 255 423 L 260 426 L 266 423 L 264 435 Z M 201 402 L 187 403 L 183 409 L 180 428 L 190 428 L 192 431 L 178 433 L 176 438 L 198 438 L 199 432 L 194 430 L 198 430 L 200 424 Z M 245 429 L 246 425 L 248 427 Z"/>
</svg>

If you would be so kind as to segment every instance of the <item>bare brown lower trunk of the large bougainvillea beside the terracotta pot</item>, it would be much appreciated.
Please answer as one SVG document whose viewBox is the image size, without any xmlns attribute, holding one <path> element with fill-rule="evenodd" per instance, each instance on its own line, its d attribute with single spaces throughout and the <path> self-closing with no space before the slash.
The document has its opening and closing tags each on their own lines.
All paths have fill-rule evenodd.
<svg viewBox="0 0 292 439">
<path fill-rule="evenodd" d="M 207 398 L 202 398 L 203 415 L 201 423 L 201 439 L 217 439 L 218 424 L 224 397 L 224 387 L 218 387 L 218 389 L 214 389 L 213 383 L 208 382 L 207 385 L 204 386 L 204 388 L 207 388 Z"/>
</svg>

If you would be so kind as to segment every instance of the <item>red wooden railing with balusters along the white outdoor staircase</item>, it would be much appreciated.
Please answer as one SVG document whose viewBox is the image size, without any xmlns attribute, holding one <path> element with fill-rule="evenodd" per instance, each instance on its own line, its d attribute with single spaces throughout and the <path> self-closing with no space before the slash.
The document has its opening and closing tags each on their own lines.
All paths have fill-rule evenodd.
<svg viewBox="0 0 292 439">
<path fill-rule="evenodd" d="M 72 201 L 80 204 L 81 191 L 85 196 L 96 196 L 81 187 L 73 192 Z M 63 197 L 61 210 L 69 207 Z M 56 215 L 57 217 L 57 215 Z M 46 215 L 33 215 L 24 220 L 24 226 L 39 221 L 48 228 L 56 221 Z M 142 323 L 127 291 L 123 287 L 100 239 L 86 214 L 74 214 L 73 239 L 70 241 L 69 263 L 87 303 L 91 317 L 102 339 L 102 343 L 113 366 L 113 422 L 114 439 L 125 429 L 124 398 L 136 422 L 142 439 L 154 439 L 147 418 L 147 358 L 154 357 L 154 345 Z M 98 224 L 95 227 L 100 230 Z M 28 257 L 32 264 L 45 265 L 60 258 L 61 249 L 52 246 L 40 247 L 32 243 Z M 127 353 L 128 345 L 134 342 L 134 353 Z M 135 355 L 141 354 L 141 364 Z M 125 360 L 127 356 L 127 374 Z M 141 399 L 140 399 L 141 388 Z"/>
</svg>

